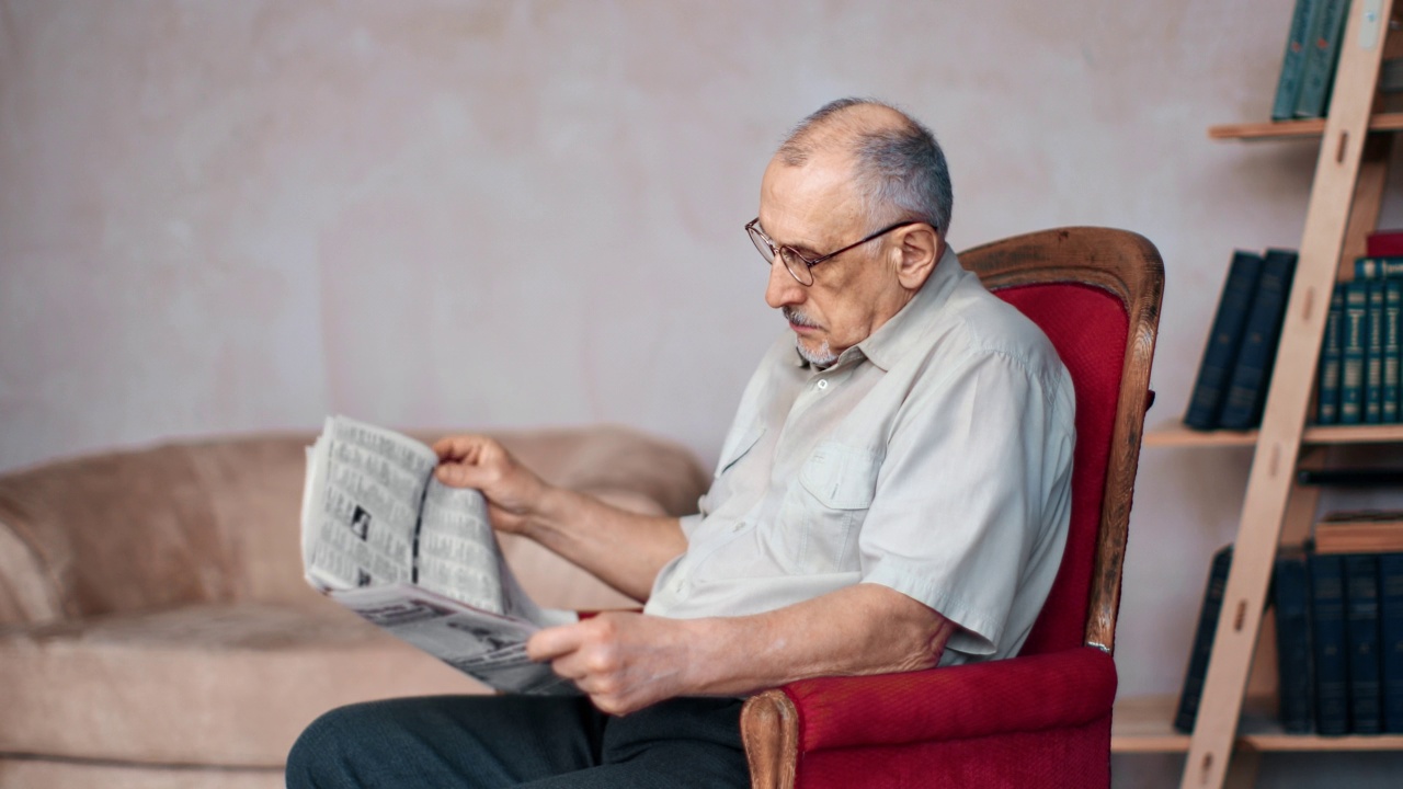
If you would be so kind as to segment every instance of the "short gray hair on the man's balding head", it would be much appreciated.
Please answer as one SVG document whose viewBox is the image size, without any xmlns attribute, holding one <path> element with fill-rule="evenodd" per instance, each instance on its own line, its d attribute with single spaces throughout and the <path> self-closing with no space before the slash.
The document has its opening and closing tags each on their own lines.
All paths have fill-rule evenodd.
<svg viewBox="0 0 1403 789">
<path fill-rule="evenodd" d="M 870 124 L 843 117 L 845 110 L 861 105 L 885 107 L 902 122 Z M 790 167 L 801 167 L 835 142 L 853 153 L 853 177 L 874 225 L 919 219 L 946 234 L 954 194 L 946 154 L 930 129 L 882 101 L 839 98 L 800 121 L 776 156 Z"/>
</svg>

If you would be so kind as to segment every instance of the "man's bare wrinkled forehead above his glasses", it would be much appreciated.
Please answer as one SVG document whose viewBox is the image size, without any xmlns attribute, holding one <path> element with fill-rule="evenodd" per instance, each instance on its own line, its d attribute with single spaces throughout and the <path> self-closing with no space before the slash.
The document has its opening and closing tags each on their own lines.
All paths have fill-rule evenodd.
<svg viewBox="0 0 1403 789">
<path fill-rule="evenodd" d="M 760 227 L 779 244 L 821 248 L 866 222 L 849 157 L 815 154 L 798 166 L 770 160 L 760 180 Z"/>
</svg>

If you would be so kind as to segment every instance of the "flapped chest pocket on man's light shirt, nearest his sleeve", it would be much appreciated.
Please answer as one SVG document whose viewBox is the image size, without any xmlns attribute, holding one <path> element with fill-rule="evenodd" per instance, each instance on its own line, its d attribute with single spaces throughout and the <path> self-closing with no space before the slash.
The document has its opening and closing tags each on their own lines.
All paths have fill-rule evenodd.
<svg viewBox="0 0 1403 789">
<path fill-rule="evenodd" d="M 857 531 L 877 489 L 878 456 L 833 441 L 819 444 L 790 486 L 774 535 L 800 573 L 857 570 Z"/>
</svg>

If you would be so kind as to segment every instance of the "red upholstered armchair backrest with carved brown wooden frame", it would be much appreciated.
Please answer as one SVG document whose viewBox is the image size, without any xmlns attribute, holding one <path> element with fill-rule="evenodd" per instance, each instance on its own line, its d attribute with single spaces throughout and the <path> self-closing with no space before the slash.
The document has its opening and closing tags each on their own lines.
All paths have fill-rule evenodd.
<svg viewBox="0 0 1403 789">
<path fill-rule="evenodd" d="M 1125 230 L 1063 227 L 974 247 L 960 261 L 1042 329 L 1076 389 L 1072 522 L 1021 654 L 1111 651 L 1164 284 L 1159 251 Z"/>
</svg>

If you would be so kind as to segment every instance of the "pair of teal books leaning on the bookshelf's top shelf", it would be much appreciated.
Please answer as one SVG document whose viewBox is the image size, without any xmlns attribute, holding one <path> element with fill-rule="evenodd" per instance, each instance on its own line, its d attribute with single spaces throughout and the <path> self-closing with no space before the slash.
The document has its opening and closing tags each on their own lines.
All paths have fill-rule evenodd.
<svg viewBox="0 0 1403 789">
<path fill-rule="evenodd" d="M 1296 0 L 1281 59 L 1273 121 L 1324 118 L 1350 0 Z"/>
</svg>

